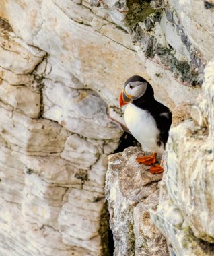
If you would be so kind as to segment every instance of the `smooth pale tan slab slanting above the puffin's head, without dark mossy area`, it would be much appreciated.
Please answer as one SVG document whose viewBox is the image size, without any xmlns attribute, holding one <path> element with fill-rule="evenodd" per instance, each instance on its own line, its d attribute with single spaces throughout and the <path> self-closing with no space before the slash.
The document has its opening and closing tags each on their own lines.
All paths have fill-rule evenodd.
<svg viewBox="0 0 214 256">
<path fill-rule="evenodd" d="M 106 3 L 103 1 L 103 3 L 103 6 L 99 2 L 101 5 L 95 7 L 90 6 L 88 1 L 82 1 L 79 5 L 78 1 L 4 0 L 0 13 L 9 20 L 17 36 L 22 37 L 28 44 L 46 51 L 58 66 L 65 67 L 67 71 L 78 77 L 81 83 L 87 85 L 87 88 L 96 90 L 108 104 L 118 106 L 121 86 L 131 75 L 141 75 L 149 79 L 156 98 L 171 108 L 181 101 L 194 100 L 199 89 L 184 85 L 190 80 L 186 82 L 179 79 L 179 72 L 175 80 L 171 70 L 166 71 L 170 68 L 169 63 L 161 63 L 162 58 L 157 54 L 154 53 L 153 57 L 146 59 L 143 53 L 145 49 L 133 45 L 126 31 L 131 29 L 131 36 L 137 38 L 137 45 L 147 45 L 148 36 L 155 36 L 158 43 L 169 51 L 170 42 L 164 34 L 165 25 L 160 26 L 160 24 L 169 24 L 168 20 L 165 18 L 161 23 L 153 22 L 154 28 L 151 31 L 146 31 L 145 24 L 141 22 L 137 25 L 136 29 L 139 30 L 137 32 L 138 30 L 135 31 L 132 27 L 127 28 L 124 22 L 128 18 L 133 19 L 131 13 L 127 15 L 126 10 L 123 12 L 127 8 L 126 1 L 121 2 L 120 5 L 116 1 L 106 1 Z M 94 5 L 93 1 L 91 4 Z M 142 10 L 139 11 L 141 12 Z M 17 13 L 19 13 L 18 17 Z M 20 19 L 20 16 L 23 18 Z M 116 24 L 112 23 L 112 19 Z M 138 18 L 134 23 L 137 22 L 139 22 Z M 185 49 L 184 42 L 178 41 L 178 37 L 180 35 L 176 30 L 172 31 L 171 40 L 179 44 L 178 49 Z M 133 41 L 136 40 L 133 38 Z M 175 47 L 173 56 L 180 60 L 182 55 L 184 60 L 188 60 L 188 51 L 177 53 L 178 49 Z M 180 65 L 176 63 L 176 57 L 173 57 L 174 66 Z"/>
</svg>

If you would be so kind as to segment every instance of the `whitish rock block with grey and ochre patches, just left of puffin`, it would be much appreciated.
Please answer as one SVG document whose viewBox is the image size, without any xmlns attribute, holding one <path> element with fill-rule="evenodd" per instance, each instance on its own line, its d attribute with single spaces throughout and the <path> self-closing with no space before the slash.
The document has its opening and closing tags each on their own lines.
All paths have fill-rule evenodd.
<svg viewBox="0 0 214 256">
<path fill-rule="evenodd" d="M 92 90 L 75 90 L 56 82 L 44 84 L 42 117 L 58 121 L 69 131 L 85 137 L 120 137 L 121 132 L 108 120 L 106 103 Z"/>
</svg>

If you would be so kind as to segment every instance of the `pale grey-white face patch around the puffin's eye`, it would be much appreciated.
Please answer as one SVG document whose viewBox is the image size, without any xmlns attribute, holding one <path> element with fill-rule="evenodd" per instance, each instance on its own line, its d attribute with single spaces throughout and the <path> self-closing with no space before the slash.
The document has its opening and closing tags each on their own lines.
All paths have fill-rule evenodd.
<svg viewBox="0 0 214 256">
<path fill-rule="evenodd" d="M 145 94 L 145 91 L 147 90 L 147 82 L 129 82 L 124 88 L 127 95 L 131 95 L 134 100 L 137 98 L 140 98 Z"/>
</svg>

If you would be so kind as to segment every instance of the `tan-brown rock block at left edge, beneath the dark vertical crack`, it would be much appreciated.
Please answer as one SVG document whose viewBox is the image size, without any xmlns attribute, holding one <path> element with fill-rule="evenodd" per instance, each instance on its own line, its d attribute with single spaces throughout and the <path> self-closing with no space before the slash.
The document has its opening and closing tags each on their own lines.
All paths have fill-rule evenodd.
<svg viewBox="0 0 214 256">
<path fill-rule="evenodd" d="M 47 119 L 30 119 L 25 115 L 0 108 L 1 137 L 15 151 L 46 156 L 63 150 L 67 131 Z"/>
</svg>

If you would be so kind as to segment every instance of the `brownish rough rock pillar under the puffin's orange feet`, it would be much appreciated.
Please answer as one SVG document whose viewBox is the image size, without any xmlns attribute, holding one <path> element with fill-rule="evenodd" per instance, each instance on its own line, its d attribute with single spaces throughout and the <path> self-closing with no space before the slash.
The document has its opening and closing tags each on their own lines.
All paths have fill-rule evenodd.
<svg viewBox="0 0 214 256">
<path fill-rule="evenodd" d="M 162 174 L 147 172 L 148 166 L 136 161 L 139 155 L 146 152 L 130 147 L 109 156 L 106 197 L 114 255 L 168 255 L 166 240 L 149 216 L 149 210 L 155 210 L 159 201 Z"/>
</svg>

